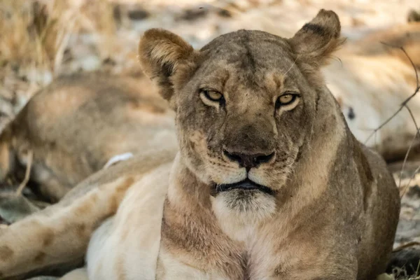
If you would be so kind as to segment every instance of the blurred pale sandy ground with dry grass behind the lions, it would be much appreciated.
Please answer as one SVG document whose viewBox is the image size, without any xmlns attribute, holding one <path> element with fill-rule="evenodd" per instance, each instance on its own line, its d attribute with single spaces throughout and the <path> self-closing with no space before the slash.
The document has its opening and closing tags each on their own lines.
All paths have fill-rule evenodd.
<svg viewBox="0 0 420 280">
<path fill-rule="evenodd" d="M 174 31 L 199 48 L 237 29 L 292 36 L 320 8 L 327 8 L 339 15 L 342 34 L 352 41 L 407 22 L 410 10 L 420 9 L 418 0 L 38 2 L 0 0 L 0 132 L 37 90 L 57 76 L 96 70 L 139 73 L 139 36 L 151 27 Z M 390 165 L 402 186 L 395 247 L 420 242 L 420 161 L 407 162 L 403 172 L 401 166 Z"/>
</svg>

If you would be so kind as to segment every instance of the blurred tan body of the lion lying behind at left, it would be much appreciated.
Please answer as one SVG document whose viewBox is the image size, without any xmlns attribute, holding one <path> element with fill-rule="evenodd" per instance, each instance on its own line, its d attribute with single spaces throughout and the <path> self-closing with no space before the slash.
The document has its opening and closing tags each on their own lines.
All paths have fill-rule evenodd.
<svg viewBox="0 0 420 280">
<path fill-rule="evenodd" d="M 31 181 L 57 201 L 113 156 L 162 145 L 176 145 L 173 113 L 145 78 L 62 77 L 0 134 L 0 180 L 25 169 L 31 150 Z"/>
</svg>

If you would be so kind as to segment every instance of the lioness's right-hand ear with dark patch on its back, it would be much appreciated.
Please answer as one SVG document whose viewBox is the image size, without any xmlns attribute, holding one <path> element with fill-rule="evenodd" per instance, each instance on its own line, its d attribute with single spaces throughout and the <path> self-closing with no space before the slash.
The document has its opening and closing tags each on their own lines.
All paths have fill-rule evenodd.
<svg viewBox="0 0 420 280">
<path fill-rule="evenodd" d="M 318 68 L 327 64 L 332 52 L 344 43 L 340 31 L 337 14 L 322 9 L 288 41 L 300 61 Z"/>
</svg>

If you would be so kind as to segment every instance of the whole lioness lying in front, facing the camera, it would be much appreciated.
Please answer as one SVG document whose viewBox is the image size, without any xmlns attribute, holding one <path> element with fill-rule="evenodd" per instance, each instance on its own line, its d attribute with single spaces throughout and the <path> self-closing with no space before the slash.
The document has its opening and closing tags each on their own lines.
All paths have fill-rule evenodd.
<svg viewBox="0 0 420 280">
<path fill-rule="evenodd" d="M 240 30 L 201 50 L 146 31 L 139 57 L 176 111 L 179 152 L 98 172 L 3 230 L 3 278 L 80 260 L 89 241 L 91 280 L 384 272 L 400 200 L 384 160 L 353 137 L 320 74 L 339 32 L 328 10 L 290 39 Z"/>
</svg>

